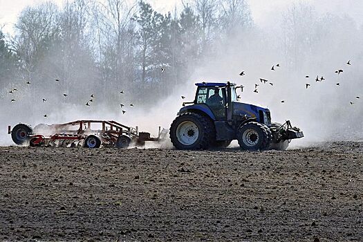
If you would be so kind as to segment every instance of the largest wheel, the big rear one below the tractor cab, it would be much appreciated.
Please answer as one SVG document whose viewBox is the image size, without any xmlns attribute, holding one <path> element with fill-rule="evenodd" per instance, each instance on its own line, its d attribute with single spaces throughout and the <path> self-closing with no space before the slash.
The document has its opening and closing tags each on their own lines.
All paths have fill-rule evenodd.
<svg viewBox="0 0 363 242">
<path fill-rule="evenodd" d="M 176 149 L 208 149 L 215 138 L 212 122 L 198 113 L 183 113 L 176 117 L 169 134 Z"/>
</svg>

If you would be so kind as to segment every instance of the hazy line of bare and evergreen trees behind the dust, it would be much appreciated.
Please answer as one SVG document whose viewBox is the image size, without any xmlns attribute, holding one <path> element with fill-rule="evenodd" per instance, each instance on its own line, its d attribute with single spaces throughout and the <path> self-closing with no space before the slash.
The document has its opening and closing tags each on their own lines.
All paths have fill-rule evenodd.
<svg viewBox="0 0 363 242">
<path fill-rule="evenodd" d="M 119 92 L 132 102 L 158 101 L 182 86 L 215 44 L 252 27 L 245 0 L 191 0 L 163 15 L 147 1 L 45 1 L 22 10 L 15 35 L 0 32 L 0 80 L 24 95 Z M 60 80 L 60 86 L 54 80 Z M 59 97 L 60 99 L 61 97 Z"/>
</svg>

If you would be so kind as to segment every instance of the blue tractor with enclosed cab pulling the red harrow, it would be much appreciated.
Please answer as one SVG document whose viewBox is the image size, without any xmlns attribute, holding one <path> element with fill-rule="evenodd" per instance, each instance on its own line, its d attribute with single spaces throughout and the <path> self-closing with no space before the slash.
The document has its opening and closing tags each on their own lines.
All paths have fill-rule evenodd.
<svg viewBox="0 0 363 242">
<path fill-rule="evenodd" d="M 272 123 L 270 110 L 238 102 L 230 82 L 196 84 L 194 102 L 183 103 L 170 128 L 176 149 L 224 148 L 238 140 L 241 149 L 287 149 L 290 140 L 304 137 L 290 121 Z M 187 105 L 187 106 L 186 106 Z"/>
</svg>

